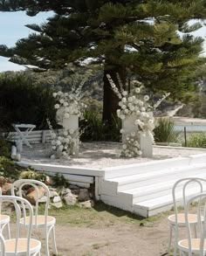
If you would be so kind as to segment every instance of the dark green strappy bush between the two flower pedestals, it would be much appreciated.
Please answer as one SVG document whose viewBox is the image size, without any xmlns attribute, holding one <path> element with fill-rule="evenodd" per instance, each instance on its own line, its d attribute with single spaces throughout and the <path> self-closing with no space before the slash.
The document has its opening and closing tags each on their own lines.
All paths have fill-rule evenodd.
<svg viewBox="0 0 206 256">
<path fill-rule="evenodd" d="M 83 142 L 120 142 L 120 120 L 113 118 L 112 125 L 108 126 L 102 121 L 101 114 L 87 110 L 84 120 L 79 122 Z"/>
</svg>

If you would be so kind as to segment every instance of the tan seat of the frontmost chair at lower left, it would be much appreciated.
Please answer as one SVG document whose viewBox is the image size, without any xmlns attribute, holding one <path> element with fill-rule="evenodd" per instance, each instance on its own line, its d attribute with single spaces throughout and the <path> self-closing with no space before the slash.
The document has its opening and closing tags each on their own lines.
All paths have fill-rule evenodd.
<svg viewBox="0 0 206 256">
<path fill-rule="evenodd" d="M 15 253 L 16 239 L 5 240 L 6 254 Z M 41 249 L 41 242 L 37 239 L 30 239 L 30 253 L 36 253 Z M 17 240 L 17 253 L 27 252 L 27 239 Z"/>
</svg>

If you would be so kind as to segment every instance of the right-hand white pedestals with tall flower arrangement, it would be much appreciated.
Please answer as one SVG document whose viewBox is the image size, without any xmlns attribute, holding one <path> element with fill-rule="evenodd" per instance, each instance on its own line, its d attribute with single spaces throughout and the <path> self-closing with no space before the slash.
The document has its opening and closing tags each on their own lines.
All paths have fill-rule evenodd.
<svg viewBox="0 0 206 256">
<path fill-rule="evenodd" d="M 149 96 L 144 95 L 144 86 L 139 81 L 134 82 L 134 89 L 127 93 L 123 89 L 120 77 L 117 74 L 120 89 L 114 84 L 111 76 L 107 74 L 107 79 L 113 88 L 113 92 L 119 97 L 120 109 L 117 115 L 122 121 L 122 150 L 121 155 L 125 157 L 153 155 L 154 143 L 154 109 L 166 99 L 169 93 L 163 95 L 152 107 L 148 101 Z"/>
</svg>

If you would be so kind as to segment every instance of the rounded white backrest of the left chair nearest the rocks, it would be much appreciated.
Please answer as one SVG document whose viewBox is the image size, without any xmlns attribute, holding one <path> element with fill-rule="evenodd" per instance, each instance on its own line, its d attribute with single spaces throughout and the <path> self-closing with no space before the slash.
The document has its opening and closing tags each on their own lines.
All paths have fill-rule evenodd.
<svg viewBox="0 0 206 256">
<path fill-rule="evenodd" d="M 12 183 L 11 186 L 11 195 L 16 195 L 18 191 L 18 196 L 19 197 L 24 197 L 24 189 L 32 190 L 32 195 L 35 198 L 33 201 L 33 204 L 35 205 L 34 209 L 34 219 L 33 219 L 33 224 L 38 225 L 38 206 L 39 206 L 39 201 L 41 201 L 42 196 L 44 195 L 45 200 L 44 200 L 44 215 L 45 215 L 45 225 L 47 224 L 47 216 L 48 216 L 48 208 L 49 208 L 49 203 L 50 203 L 50 191 L 48 187 L 45 185 L 45 183 L 42 183 L 37 180 L 32 180 L 32 179 L 19 179 L 16 182 Z M 29 201 L 31 198 L 25 197 Z M 42 209 L 41 209 L 42 210 Z M 23 208 L 24 214 L 25 208 Z M 34 223 L 35 221 L 35 223 Z"/>
</svg>

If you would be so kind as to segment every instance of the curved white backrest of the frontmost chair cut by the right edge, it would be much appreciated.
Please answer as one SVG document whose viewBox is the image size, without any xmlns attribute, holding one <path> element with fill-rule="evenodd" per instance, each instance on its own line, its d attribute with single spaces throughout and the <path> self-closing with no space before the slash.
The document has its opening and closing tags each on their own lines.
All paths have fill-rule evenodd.
<svg viewBox="0 0 206 256">
<path fill-rule="evenodd" d="M 203 247 L 206 241 L 206 192 L 199 193 L 194 197 L 190 197 L 189 201 L 185 206 L 185 220 L 187 225 L 188 239 L 189 239 L 189 256 L 192 256 L 192 231 L 191 224 L 189 223 L 189 209 L 192 204 L 198 202 L 196 207 L 193 207 L 193 213 L 197 215 L 197 225 L 196 225 L 196 237 L 200 239 L 199 245 L 197 244 L 197 249 L 199 246 L 199 253 L 196 255 L 205 256 Z"/>
</svg>

